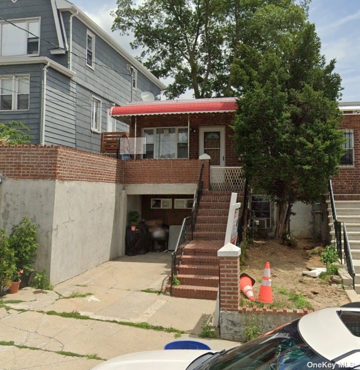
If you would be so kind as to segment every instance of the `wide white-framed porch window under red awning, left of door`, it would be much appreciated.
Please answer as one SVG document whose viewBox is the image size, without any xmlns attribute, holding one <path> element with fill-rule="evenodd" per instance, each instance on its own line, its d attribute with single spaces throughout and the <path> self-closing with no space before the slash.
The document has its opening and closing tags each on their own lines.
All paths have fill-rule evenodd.
<svg viewBox="0 0 360 370">
<path fill-rule="evenodd" d="M 188 128 L 159 127 L 143 129 L 146 138 L 144 159 L 188 158 Z"/>
</svg>

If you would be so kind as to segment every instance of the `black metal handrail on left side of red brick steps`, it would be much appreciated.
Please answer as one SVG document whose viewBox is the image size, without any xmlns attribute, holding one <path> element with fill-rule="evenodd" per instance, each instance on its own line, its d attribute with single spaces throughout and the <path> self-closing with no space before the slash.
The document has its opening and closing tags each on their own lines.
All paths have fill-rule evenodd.
<svg viewBox="0 0 360 370">
<path fill-rule="evenodd" d="M 181 258 L 184 253 L 185 246 L 194 239 L 194 230 L 196 217 L 198 215 L 198 209 L 200 204 L 201 195 L 203 192 L 203 170 L 204 164 L 202 164 L 199 174 L 198 186 L 194 194 L 193 208 L 191 211 L 191 216 L 185 217 L 183 220 L 183 225 L 181 227 L 175 250 L 172 252 L 172 261 L 171 261 L 171 280 L 170 280 L 170 295 L 172 293 L 172 284 L 174 276 L 177 275 L 178 269 L 181 263 Z"/>
</svg>

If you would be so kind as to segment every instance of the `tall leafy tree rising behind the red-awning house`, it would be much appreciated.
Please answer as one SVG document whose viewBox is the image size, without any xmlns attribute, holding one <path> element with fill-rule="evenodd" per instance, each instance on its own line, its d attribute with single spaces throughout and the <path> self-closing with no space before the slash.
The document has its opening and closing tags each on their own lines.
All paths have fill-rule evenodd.
<svg viewBox="0 0 360 370">
<path fill-rule="evenodd" d="M 231 96 L 238 45 L 272 48 L 299 30 L 310 0 L 117 0 L 112 30 L 134 34 L 133 48 L 156 77 L 174 79 L 165 95 Z"/>
</svg>

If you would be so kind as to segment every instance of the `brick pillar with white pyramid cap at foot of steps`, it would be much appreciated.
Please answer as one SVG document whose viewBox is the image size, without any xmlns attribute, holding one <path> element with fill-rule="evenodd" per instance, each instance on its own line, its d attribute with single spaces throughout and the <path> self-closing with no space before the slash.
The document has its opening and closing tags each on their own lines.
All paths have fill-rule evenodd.
<svg viewBox="0 0 360 370">
<path fill-rule="evenodd" d="M 238 311 L 241 249 L 231 243 L 217 251 L 220 268 L 220 311 Z"/>
</svg>

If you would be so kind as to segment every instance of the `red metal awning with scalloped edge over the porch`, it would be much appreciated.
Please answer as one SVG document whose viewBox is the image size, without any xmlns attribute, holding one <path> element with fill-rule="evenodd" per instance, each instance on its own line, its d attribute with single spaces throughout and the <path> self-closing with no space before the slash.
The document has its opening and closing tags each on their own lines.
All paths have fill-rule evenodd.
<svg viewBox="0 0 360 370">
<path fill-rule="evenodd" d="M 155 100 L 112 107 L 110 115 L 113 117 L 124 117 L 157 114 L 222 113 L 234 112 L 236 109 L 236 98 Z"/>
</svg>

